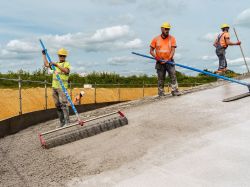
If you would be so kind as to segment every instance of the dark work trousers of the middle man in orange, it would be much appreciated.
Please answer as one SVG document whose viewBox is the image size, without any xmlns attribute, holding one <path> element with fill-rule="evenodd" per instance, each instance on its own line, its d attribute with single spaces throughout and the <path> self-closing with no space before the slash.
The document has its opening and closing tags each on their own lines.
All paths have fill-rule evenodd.
<svg viewBox="0 0 250 187">
<path fill-rule="evenodd" d="M 176 79 L 176 73 L 175 73 L 175 66 L 172 64 L 160 64 L 156 63 L 155 69 L 157 71 L 158 75 L 158 95 L 164 95 L 164 82 L 166 79 L 166 72 L 168 72 L 168 75 L 170 77 L 170 84 L 172 91 L 175 91 L 178 89 L 178 83 Z"/>
</svg>

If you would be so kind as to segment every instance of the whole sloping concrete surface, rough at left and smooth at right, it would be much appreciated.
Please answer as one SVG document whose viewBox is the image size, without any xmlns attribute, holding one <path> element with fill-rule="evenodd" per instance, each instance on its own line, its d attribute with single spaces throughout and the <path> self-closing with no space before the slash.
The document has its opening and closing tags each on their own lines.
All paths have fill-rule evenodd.
<svg viewBox="0 0 250 187">
<path fill-rule="evenodd" d="M 0 186 L 250 186 L 250 97 L 222 102 L 247 91 L 124 103 L 129 125 L 49 150 L 37 133 L 57 120 L 30 127 L 0 139 Z"/>
</svg>

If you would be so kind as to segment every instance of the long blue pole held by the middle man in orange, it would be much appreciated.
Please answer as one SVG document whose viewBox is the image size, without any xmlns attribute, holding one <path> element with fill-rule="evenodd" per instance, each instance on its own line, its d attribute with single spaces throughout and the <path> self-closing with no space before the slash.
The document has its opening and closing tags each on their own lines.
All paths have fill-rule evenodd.
<svg viewBox="0 0 250 187">
<path fill-rule="evenodd" d="M 148 55 L 144 55 L 144 54 L 140 54 L 140 53 L 135 53 L 135 52 L 132 52 L 132 54 L 155 60 L 155 58 L 152 57 L 152 56 L 148 56 Z M 197 72 L 200 72 L 200 73 L 212 76 L 212 77 L 224 79 L 224 80 L 229 81 L 229 82 L 234 82 L 234 83 L 237 83 L 237 84 L 241 84 L 241 85 L 247 86 L 248 89 L 250 87 L 250 84 L 247 83 L 247 82 L 244 82 L 244 81 L 239 81 L 239 80 L 236 80 L 236 79 L 232 79 L 232 78 L 228 78 L 228 77 L 225 77 L 225 76 L 217 75 L 217 74 L 214 74 L 214 73 L 210 73 L 208 71 L 203 71 L 203 70 L 192 68 L 192 67 L 185 66 L 185 65 L 182 65 L 182 64 L 173 63 L 171 61 L 166 61 L 166 60 L 160 60 L 160 61 L 168 63 L 168 64 L 176 65 L 176 66 L 179 66 L 179 67 L 182 67 L 182 68 L 185 68 L 185 69 L 190 69 L 190 70 L 193 70 L 193 71 L 197 71 Z"/>
</svg>

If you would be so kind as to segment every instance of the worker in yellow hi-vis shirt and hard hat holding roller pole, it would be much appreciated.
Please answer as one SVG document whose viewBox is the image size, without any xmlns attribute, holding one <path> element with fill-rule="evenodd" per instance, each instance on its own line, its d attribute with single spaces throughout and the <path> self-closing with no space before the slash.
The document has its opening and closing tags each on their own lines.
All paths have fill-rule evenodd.
<svg viewBox="0 0 250 187">
<path fill-rule="evenodd" d="M 69 108 L 68 108 L 68 101 L 66 98 L 65 93 L 63 92 L 59 81 L 56 78 L 56 74 L 58 74 L 65 86 L 68 88 L 68 80 L 69 80 L 69 73 L 70 73 L 70 63 L 66 61 L 66 57 L 68 56 L 68 51 L 64 48 L 58 50 L 58 62 L 51 62 L 49 63 L 46 58 L 46 52 L 43 50 L 43 61 L 45 67 L 51 67 L 51 65 L 55 66 L 55 71 L 53 72 L 53 79 L 52 79 L 52 89 L 53 89 L 53 99 L 55 102 L 55 106 L 57 108 L 57 114 L 60 119 L 60 127 L 69 124 Z"/>
</svg>

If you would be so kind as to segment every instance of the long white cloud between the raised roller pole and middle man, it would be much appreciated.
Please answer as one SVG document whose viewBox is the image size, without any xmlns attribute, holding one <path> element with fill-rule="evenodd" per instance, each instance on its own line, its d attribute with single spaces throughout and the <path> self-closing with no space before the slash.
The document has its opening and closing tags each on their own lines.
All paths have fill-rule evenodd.
<svg viewBox="0 0 250 187">
<path fill-rule="evenodd" d="M 81 48 L 87 52 L 133 49 L 142 46 L 139 38 L 133 38 L 133 32 L 127 25 L 98 29 L 93 34 L 78 32 L 65 35 L 43 37 L 50 47 L 60 46 Z"/>
</svg>

